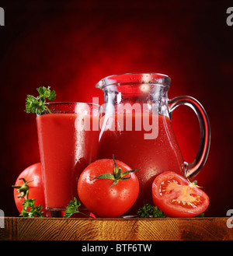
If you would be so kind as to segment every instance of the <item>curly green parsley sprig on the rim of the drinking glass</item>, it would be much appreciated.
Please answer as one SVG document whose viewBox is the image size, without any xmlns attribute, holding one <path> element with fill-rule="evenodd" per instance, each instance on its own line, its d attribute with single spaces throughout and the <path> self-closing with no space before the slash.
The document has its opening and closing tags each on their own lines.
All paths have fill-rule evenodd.
<svg viewBox="0 0 233 256">
<path fill-rule="evenodd" d="M 49 113 L 50 110 L 46 106 L 46 99 L 47 100 L 55 100 L 56 93 L 54 90 L 50 91 L 50 86 L 41 86 L 37 88 L 37 92 L 39 93 L 39 96 L 34 97 L 32 95 L 26 96 L 26 113 L 37 113 L 41 114 L 43 110 L 47 109 Z"/>
</svg>

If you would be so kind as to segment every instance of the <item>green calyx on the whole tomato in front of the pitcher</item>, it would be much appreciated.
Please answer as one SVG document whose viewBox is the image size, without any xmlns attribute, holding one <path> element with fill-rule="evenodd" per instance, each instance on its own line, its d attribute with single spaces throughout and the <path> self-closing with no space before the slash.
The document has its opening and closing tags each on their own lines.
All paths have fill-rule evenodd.
<svg viewBox="0 0 233 256">
<path fill-rule="evenodd" d="M 96 180 L 96 179 L 113 180 L 113 184 L 110 186 L 110 188 L 112 188 L 114 185 L 116 185 L 118 183 L 118 181 L 125 181 L 125 180 L 130 179 L 131 176 L 130 177 L 124 177 L 125 175 L 130 174 L 130 173 L 134 173 L 135 171 L 140 170 L 140 169 L 127 170 L 127 171 L 122 172 L 121 167 L 119 167 L 119 168 L 117 167 L 117 163 L 115 161 L 114 155 L 113 155 L 113 163 L 114 163 L 114 174 L 100 174 L 100 175 L 92 178 L 91 181 Z"/>
</svg>

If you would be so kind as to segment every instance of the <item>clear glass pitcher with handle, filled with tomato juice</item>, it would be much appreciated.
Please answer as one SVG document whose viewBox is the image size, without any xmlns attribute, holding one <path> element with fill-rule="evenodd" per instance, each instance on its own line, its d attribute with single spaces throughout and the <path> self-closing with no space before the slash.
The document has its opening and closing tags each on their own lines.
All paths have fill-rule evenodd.
<svg viewBox="0 0 233 256">
<path fill-rule="evenodd" d="M 203 167 L 210 148 L 210 123 L 202 105 L 191 96 L 168 98 L 171 79 L 158 73 L 110 75 L 96 87 L 103 89 L 104 113 L 99 135 L 98 159 L 127 163 L 140 182 L 140 193 L 127 215 L 145 203 L 153 205 L 151 184 L 156 175 L 175 171 L 192 178 Z M 191 107 L 200 122 L 200 147 L 192 163 L 183 160 L 172 130 L 172 111 Z"/>
</svg>

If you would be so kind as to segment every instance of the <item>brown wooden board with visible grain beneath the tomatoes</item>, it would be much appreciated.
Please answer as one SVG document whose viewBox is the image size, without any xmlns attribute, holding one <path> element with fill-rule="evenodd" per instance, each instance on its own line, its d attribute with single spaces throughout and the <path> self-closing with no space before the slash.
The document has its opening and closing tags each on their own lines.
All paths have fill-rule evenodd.
<svg viewBox="0 0 233 256">
<path fill-rule="evenodd" d="M 233 228 L 227 226 L 228 218 L 5 217 L 4 221 L 0 240 L 233 240 Z"/>
</svg>

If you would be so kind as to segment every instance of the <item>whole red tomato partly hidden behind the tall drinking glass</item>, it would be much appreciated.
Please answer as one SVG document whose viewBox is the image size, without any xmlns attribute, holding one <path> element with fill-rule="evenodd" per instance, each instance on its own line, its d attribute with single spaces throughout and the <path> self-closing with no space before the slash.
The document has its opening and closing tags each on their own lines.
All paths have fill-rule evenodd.
<svg viewBox="0 0 233 256">
<path fill-rule="evenodd" d="M 45 201 L 40 163 L 34 163 L 23 170 L 23 172 L 19 174 L 16 184 L 12 187 L 14 188 L 16 207 L 20 213 L 23 209 L 22 204 L 24 200 L 35 198 L 35 205 L 43 206 L 43 216 L 45 216 Z"/>
</svg>

